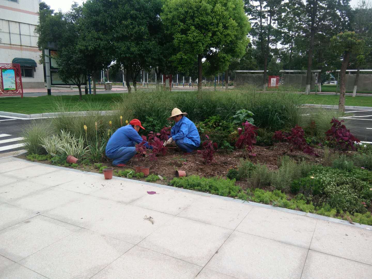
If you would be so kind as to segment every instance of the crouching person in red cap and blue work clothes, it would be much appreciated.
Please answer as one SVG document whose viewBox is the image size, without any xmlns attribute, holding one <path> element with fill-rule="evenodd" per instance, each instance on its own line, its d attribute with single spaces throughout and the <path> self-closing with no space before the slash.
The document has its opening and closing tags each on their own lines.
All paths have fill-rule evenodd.
<svg viewBox="0 0 372 279">
<path fill-rule="evenodd" d="M 145 129 L 138 119 L 132 119 L 128 125 L 121 127 L 112 134 L 106 145 L 106 156 L 112 159 L 112 165 L 126 167 L 126 163 L 136 154 L 135 145 L 143 140 L 138 134 L 140 129 Z M 153 149 L 145 143 L 146 148 Z"/>
</svg>

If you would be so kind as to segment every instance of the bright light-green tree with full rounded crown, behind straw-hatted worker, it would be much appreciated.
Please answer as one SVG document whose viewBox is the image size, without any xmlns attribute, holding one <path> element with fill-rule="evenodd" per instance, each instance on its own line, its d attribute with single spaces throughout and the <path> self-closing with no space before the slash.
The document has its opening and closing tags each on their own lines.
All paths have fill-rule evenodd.
<svg viewBox="0 0 372 279">
<path fill-rule="evenodd" d="M 179 71 L 198 61 L 198 91 L 202 89 L 202 59 L 225 70 L 231 59 L 244 54 L 250 25 L 239 0 L 168 0 L 161 19 L 177 53 Z"/>
</svg>

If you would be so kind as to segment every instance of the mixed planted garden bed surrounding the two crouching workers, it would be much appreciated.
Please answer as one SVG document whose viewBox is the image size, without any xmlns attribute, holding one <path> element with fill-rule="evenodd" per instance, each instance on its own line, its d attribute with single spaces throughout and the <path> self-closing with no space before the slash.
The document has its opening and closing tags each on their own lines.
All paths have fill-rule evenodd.
<svg viewBox="0 0 372 279">
<path fill-rule="evenodd" d="M 114 167 L 115 176 L 372 222 L 372 148 L 355 144 L 337 111 L 304 113 L 301 98 L 281 93 L 160 91 L 146 95 L 146 102 L 141 94 L 116 100 L 108 115 L 96 113 L 91 103 L 84 115 L 69 116 L 63 112 L 66 104 L 58 103 L 58 117 L 33 122 L 26 129 L 28 159 L 102 172 L 111 166 L 105 157 L 109 137 L 139 118 L 146 128 L 142 138 L 153 150 L 137 144 L 136 157 L 150 167 L 151 175 L 136 174 L 133 158 L 127 168 Z M 198 153 L 186 156 L 177 148 L 163 147 L 173 125 L 166 120 L 173 107 L 186 111 L 196 123 L 202 139 Z M 79 158 L 77 164 L 66 163 L 68 153 Z M 174 178 L 176 170 L 186 171 L 186 178 Z"/>
</svg>

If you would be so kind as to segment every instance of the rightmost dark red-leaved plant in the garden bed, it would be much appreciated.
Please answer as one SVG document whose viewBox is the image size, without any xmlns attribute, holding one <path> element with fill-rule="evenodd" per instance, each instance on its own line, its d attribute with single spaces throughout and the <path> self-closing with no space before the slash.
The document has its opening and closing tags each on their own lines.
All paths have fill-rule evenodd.
<svg viewBox="0 0 372 279">
<path fill-rule="evenodd" d="M 342 124 L 343 120 L 339 121 L 333 118 L 331 121 L 332 127 L 325 135 L 327 136 L 327 141 L 330 141 L 335 145 L 336 148 L 342 151 L 347 151 L 349 149 L 356 150 L 355 142 L 360 142 L 360 140 L 350 133 L 349 129 Z"/>
</svg>

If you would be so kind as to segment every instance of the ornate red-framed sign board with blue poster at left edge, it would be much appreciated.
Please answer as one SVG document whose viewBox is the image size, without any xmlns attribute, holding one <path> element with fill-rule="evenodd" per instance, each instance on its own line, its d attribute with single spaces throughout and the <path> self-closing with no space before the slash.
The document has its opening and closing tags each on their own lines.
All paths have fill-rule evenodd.
<svg viewBox="0 0 372 279">
<path fill-rule="evenodd" d="M 0 97 L 16 96 L 23 98 L 21 67 L 19 64 L 0 64 Z"/>
</svg>

